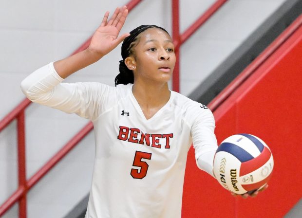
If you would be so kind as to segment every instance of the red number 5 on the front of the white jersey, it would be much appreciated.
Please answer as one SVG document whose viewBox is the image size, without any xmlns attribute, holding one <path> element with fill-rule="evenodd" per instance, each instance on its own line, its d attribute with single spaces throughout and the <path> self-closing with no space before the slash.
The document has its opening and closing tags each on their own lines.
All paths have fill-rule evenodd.
<svg viewBox="0 0 302 218">
<path fill-rule="evenodd" d="M 133 166 L 140 167 L 140 170 L 131 169 L 130 174 L 134 179 L 143 179 L 147 175 L 149 165 L 145 161 L 142 161 L 142 159 L 151 160 L 151 153 L 135 151 Z"/>
</svg>

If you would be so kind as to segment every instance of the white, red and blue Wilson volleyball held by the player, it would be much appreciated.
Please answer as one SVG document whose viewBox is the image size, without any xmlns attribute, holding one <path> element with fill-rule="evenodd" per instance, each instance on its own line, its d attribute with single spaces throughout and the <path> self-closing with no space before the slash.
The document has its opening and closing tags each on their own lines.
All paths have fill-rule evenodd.
<svg viewBox="0 0 302 218">
<path fill-rule="evenodd" d="M 217 148 L 213 172 L 227 190 L 244 194 L 264 187 L 272 175 L 273 155 L 263 140 L 251 134 L 227 137 Z"/>
</svg>

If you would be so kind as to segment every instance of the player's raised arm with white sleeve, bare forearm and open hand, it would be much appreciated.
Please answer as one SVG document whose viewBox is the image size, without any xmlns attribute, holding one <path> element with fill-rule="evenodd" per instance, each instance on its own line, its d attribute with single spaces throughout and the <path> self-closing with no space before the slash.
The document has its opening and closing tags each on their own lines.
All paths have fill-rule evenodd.
<svg viewBox="0 0 302 218">
<path fill-rule="evenodd" d="M 126 6 L 117 8 L 107 22 L 106 12 L 102 24 L 95 31 L 89 48 L 65 59 L 45 65 L 28 75 L 21 82 L 21 90 L 33 102 L 77 113 L 85 118 L 93 118 L 97 104 L 110 87 L 96 83 L 61 83 L 72 73 L 94 63 L 112 51 L 126 36 L 118 36 L 128 10 Z"/>
</svg>

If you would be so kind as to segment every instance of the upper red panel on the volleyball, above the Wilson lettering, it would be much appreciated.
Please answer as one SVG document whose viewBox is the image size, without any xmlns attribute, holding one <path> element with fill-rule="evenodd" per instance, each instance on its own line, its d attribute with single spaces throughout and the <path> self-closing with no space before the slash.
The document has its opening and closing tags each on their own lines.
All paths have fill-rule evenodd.
<svg viewBox="0 0 302 218">
<path fill-rule="evenodd" d="M 264 146 L 263 151 L 258 157 L 241 164 L 239 176 L 244 176 L 245 174 L 253 172 L 259 167 L 263 166 L 269 160 L 270 156 L 270 151 Z"/>
</svg>

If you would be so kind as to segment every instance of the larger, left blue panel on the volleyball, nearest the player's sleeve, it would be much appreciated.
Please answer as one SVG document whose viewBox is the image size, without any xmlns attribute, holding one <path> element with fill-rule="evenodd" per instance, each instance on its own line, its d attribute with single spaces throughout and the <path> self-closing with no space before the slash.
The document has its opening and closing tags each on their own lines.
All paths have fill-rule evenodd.
<svg viewBox="0 0 302 218">
<path fill-rule="evenodd" d="M 232 154 L 236 157 L 240 162 L 245 162 L 252 160 L 254 157 L 248 153 L 245 149 L 228 142 L 224 142 L 218 146 L 216 153 L 219 151 L 225 151 Z"/>
</svg>

